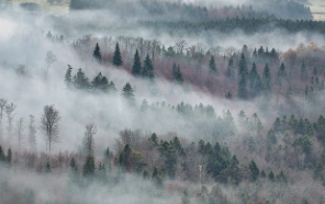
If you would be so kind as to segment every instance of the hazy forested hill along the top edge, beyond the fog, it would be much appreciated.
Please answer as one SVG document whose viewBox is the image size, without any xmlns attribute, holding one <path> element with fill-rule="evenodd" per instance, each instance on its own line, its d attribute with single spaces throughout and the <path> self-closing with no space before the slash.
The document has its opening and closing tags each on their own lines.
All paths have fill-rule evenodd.
<svg viewBox="0 0 325 204">
<path fill-rule="evenodd" d="M 192 3 L 169 1 L 116 1 L 116 0 L 71 0 L 70 10 L 108 9 L 123 16 L 142 18 L 149 14 L 165 20 L 215 20 L 225 18 L 259 18 L 273 15 L 278 19 L 312 19 L 309 7 L 288 0 L 250 0 L 246 4 L 220 7 L 194 5 Z"/>
</svg>

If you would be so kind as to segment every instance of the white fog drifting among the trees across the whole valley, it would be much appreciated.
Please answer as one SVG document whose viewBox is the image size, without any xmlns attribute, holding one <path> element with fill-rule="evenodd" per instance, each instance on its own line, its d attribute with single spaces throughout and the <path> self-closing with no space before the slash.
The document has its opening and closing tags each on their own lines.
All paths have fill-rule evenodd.
<svg viewBox="0 0 325 204">
<path fill-rule="evenodd" d="M 189 0 L 189 2 L 202 3 L 194 0 Z M 204 3 L 214 2 L 204 1 Z M 248 0 L 217 1 L 217 3 L 221 5 L 232 3 L 244 4 L 248 3 Z M 187 48 L 202 44 L 204 53 L 215 50 L 215 55 L 220 58 L 232 57 L 232 55 L 228 56 L 229 49 L 233 53 L 239 54 L 243 45 L 247 45 L 249 52 L 264 46 L 269 49 L 274 48 L 282 61 L 285 58 L 283 53 L 291 48 L 295 49 L 302 44 L 307 45 L 314 42 L 322 47 L 325 43 L 323 34 L 309 31 L 290 33 L 278 27 L 274 27 L 271 32 L 261 31 L 254 34 L 247 34 L 242 30 L 235 30 L 231 34 L 204 30 L 200 30 L 195 34 L 186 33 L 184 31 L 176 32 L 176 34 L 168 31 L 157 33 L 157 31 L 138 24 L 137 19 L 125 20 L 115 14 L 105 13 L 104 11 L 71 11 L 69 14 L 59 16 L 48 13 L 30 13 L 23 11 L 2 12 L 0 14 L 0 99 L 4 99 L 9 103 L 12 102 L 16 105 L 12 114 L 13 129 L 15 129 L 19 118 L 24 118 L 22 147 L 19 148 L 15 134 L 10 135 L 7 133 L 9 121 L 3 113 L 1 121 L 3 140 L 1 140 L 1 145 L 4 149 L 12 148 L 13 163 L 24 162 L 22 158 L 29 157 L 27 154 L 31 150 L 27 145 L 30 115 L 34 115 L 35 117 L 37 144 L 36 150 L 33 150 L 33 152 L 36 152 L 37 163 L 34 165 L 36 171 L 29 169 L 26 167 L 27 165 L 10 167 L 10 165 L 0 163 L 0 195 L 7 195 L 0 197 L 0 202 L 5 204 L 12 202 L 21 203 L 21 201 L 25 202 L 30 197 L 34 197 L 34 202 L 31 203 L 36 204 L 164 204 L 184 203 L 183 200 L 187 197 L 187 193 L 189 193 L 189 202 L 194 203 L 199 201 L 199 196 L 205 195 L 208 199 L 208 195 L 211 196 L 214 193 L 221 194 L 220 197 L 226 197 L 225 200 L 228 203 L 239 204 L 243 201 L 243 197 L 237 196 L 239 192 L 247 192 L 251 196 L 257 196 L 258 194 L 264 197 L 276 197 L 277 194 L 278 199 L 273 200 L 274 203 L 291 201 L 293 199 L 301 201 L 307 197 L 309 193 L 314 193 L 314 197 L 310 200 L 312 203 L 321 201 L 324 185 L 320 181 L 314 181 L 312 173 L 307 173 L 307 170 L 295 172 L 294 169 L 290 169 L 289 165 L 287 167 L 283 163 L 267 163 L 267 161 L 261 159 L 264 156 L 259 156 L 258 151 L 251 155 L 246 154 L 247 149 L 244 149 L 245 147 L 242 144 L 246 145 L 250 137 L 258 140 L 259 135 L 254 131 L 247 131 L 242 124 L 243 122 L 238 114 L 242 110 L 245 110 L 247 121 L 249 121 L 248 117 L 250 118 L 254 113 L 257 113 L 266 133 L 267 129 L 272 127 L 276 117 L 282 117 L 283 115 L 288 115 L 289 117 L 291 114 L 296 114 L 298 117 L 316 120 L 318 115 L 315 114 L 322 114 L 320 110 L 324 107 L 324 104 L 320 104 L 324 101 L 324 90 L 318 93 L 318 106 L 307 106 L 306 99 L 303 94 L 293 94 L 290 99 L 289 97 L 277 95 L 273 98 L 256 98 L 247 101 L 227 100 L 224 94 L 213 94 L 206 88 L 202 88 L 203 86 L 191 84 L 187 79 L 182 86 L 177 84 L 162 75 L 156 76 L 155 80 L 150 81 L 134 77 L 131 75 L 128 68 L 116 67 L 110 63 L 99 65 L 88 59 L 91 58 L 92 50 L 96 46 L 93 39 L 98 39 L 98 43 L 101 43 L 104 37 L 112 37 L 110 45 L 101 47 L 101 50 L 111 50 L 119 37 L 125 36 L 143 37 L 144 39 L 152 41 L 157 39 L 166 47 L 175 46 L 178 39 L 184 39 L 187 42 Z M 57 38 L 63 35 L 63 38 L 60 41 L 49 39 L 46 36 L 49 31 Z M 175 31 L 178 31 L 178 29 L 176 27 Z M 80 39 L 87 37 L 91 38 L 89 41 L 90 45 L 88 44 L 89 47 L 81 49 L 83 53 L 89 52 L 89 57 L 80 55 L 74 47 L 78 45 Z M 48 52 L 54 54 L 56 58 L 51 65 L 48 63 L 46 64 Z M 168 58 L 166 60 L 169 60 L 168 63 L 171 61 Z M 221 64 L 226 63 L 222 61 Z M 114 82 L 117 92 L 115 94 L 105 94 L 68 88 L 65 82 L 65 73 L 68 65 L 72 67 L 72 76 L 77 73 L 79 68 L 82 68 L 89 80 L 92 80 L 101 72 L 108 77 L 109 81 Z M 127 66 L 131 67 L 132 65 Z M 125 67 L 127 66 L 125 65 Z M 250 69 L 251 65 L 248 64 L 248 67 Z M 23 68 L 23 75 L 21 68 Z M 183 69 L 186 70 L 187 68 L 184 67 Z M 205 69 L 204 71 L 208 72 Z M 271 70 L 271 72 L 274 73 L 276 71 Z M 222 77 L 224 77 L 224 73 L 220 78 Z M 122 97 L 122 89 L 126 82 L 130 82 L 134 89 L 135 104 L 130 104 Z M 222 82 L 223 79 L 221 79 Z M 223 91 L 228 91 L 228 89 Z M 149 105 L 153 104 L 153 109 L 146 112 L 141 110 L 144 100 Z M 155 106 L 154 104 L 157 102 L 159 105 Z M 205 124 L 208 120 L 202 120 L 199 123 L 197 121 L 199 118 L 198 115 L 183 116 L 178 114 L 175 106 L 181 102 L 191 104 L 192 106 L 200 103 L 204 106 L 212 105 L 216 118 L 220 121 L 225 118 L 225 111 L 229 110 L 236 126 L 234 134 L 231 137 L 226 137 L 227 132 L 225 129 L 227 127 L 218 129 L 220 126 L 216 126 L 213 128 L 215 126 L 214 124 Z M 47 152 L 47 141 L 41 128 L 41 116 L 44 111 L 43 107 L 51 104 L 58 110 L 60 115 L 59 143 L 54 144 L 52 152 Z M 115 155 L 114 159 L 109 162 L 113 167 L 108 172 L 111 180 L 107 183 L 102 183 L 102 180 L 99 178 L 82 179 L 78 183 L 72 181 L 72 177 L 67 173 L 70 162 L 68 160 L 69 158 L 75 157 L 77 162 L 79 162 L 77 163 L 79 170 L 81 171 L 82 169 L 80 168 L 82 165 L 80 162 L 85 159 L 85 156 L 78 154 L 83 143 L 86 125 L 89 124 L 93 124 L 97 127 L 93 140 L 94 156 L 99 159 L 96 160 L 96 166 L 99 165 L 107 147 Z M 234 185 L 235 188 L 231 184 L 215 184 L 212 178 L 206 175 L 205 185 L 209 193 L 204 194 L 200 170 L 200 182 L 198 182 L 198 177 L 195 177 L 195 183 L 181 179 L 166 179 L 162 188 L 157 186 L 150 180 L 143 179 L 139 173 L 122 174 L 121 169 L 116 166 L 120 162 L 117 156 L 122 150 L 117 146 L 117 140 L 120 139 L 119 134 L 122 129 L 138 132 L 144 140 L 147 140 L 146 137 L 149 137 L 153 133 L 156 133 L 160 139 L 167 140 L 178 136 L 189 147 L 189 144 L 198 144 L 200 139 L 211 141 L 213 145 L 218 141 L 223 145 L 228 145 L 231 156 L 234 152 L 234 155 L 237 155 L 239 161 L 243 161 L 245 165 L 256 159 L 258 165 L 264 167 L 265 170 L 273 170 L 276 172 L 276 170 L 280 171 L 280 169 L 284 169 L 287 170 L 285 173 L 292 174 L 290 174 L 288 185 L 262 180 L 259 183 L 245 181 L 239 185 Z M 283 135 L 281 137 L 284 137 Z M 313 150 L 313 154 L 317 155 L 316 158 L 318 159 L 322 152 L 322 145 L 317 141 L 315 143 L 315 140 L 314 137 L 313 141 L 316 149 Z M 65 157 L 65 161 L 57 161 L 58 159 L 56 157 L 58 158 L 60 154 L 65 155 L 63 156 Z M 305 157 L 303 155 L 303 159 Z M 53 166 L 52 173 L 46 174 L 43 171 L 45 163 L 49 161 L 56 165 Z M 284 160 L 281 162 L 284 162 Z M 65 165 L 59 168 L 57 163 Z M 198 169 L 194 171 L 197 175 L 199 174 L 199 165 L 194 163 L 195 167 L 190 167 Z M 150 169 L 149 171 L 152 173 L 153 170 Z M 178 174 L 181 173 L 178 172 Z M 302 177 L 303 179 L 302 181 L 295 181 L 295 177 Z M 260 191 L 257 193 L 256 190 L 256 194 L 253 195 L 254 189 L 258 188 L 260 188 Z M 250 191 L 250 189 L 253 190 Z M 269 191 L 270 189 L 272 191 Z M 285 195 L 284 193 L 281 194 L 281 191 L 285 192 Z M 294 197 L 296 194 L 300 195 Z"/>
</svg>

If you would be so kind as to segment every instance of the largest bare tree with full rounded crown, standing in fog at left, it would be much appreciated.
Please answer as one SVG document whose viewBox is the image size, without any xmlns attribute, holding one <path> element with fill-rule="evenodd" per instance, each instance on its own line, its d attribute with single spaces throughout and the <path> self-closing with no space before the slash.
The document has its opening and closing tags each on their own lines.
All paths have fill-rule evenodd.
<svg viewBox="0 0 325 204">
<path fill-rule="evenodd" d="M 58 136 L 58 122 L 60 115 L 58 110 L 54 105 L 45 105 L 41 117 L 41 129 L 44 133 L 46 141 L 46 150 L 48 146 L 48 152 L 51 154 L 52 146 L 59 143 Z"/>
</svg>

